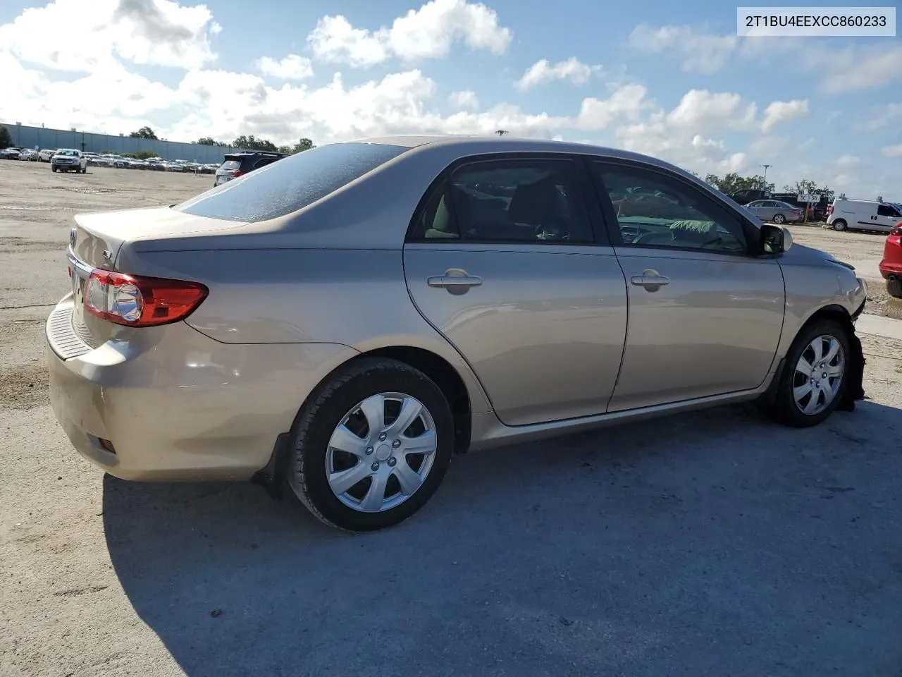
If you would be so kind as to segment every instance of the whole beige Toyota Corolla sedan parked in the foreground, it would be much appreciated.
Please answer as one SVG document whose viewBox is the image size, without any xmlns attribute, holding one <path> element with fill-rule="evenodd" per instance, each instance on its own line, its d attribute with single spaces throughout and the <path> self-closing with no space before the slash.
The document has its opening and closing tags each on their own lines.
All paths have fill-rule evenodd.
<svg viewBox="0 0 902 677">
<path fill-rule="evenodd" d="M 171 207 L 78 215 L 51 402 L 117 478 L 255 479 L 397 524 L 452 455 L 863 396 L 851 266 L 676 167 L 583 144 L 328 144 Z"/>
</svg>

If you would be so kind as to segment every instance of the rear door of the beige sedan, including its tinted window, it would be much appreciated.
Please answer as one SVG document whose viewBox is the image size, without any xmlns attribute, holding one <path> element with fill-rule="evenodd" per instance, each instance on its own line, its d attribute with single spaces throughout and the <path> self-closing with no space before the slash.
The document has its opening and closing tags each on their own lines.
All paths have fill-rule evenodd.
<svg viewBox="0 0 902 677">
<path fill-rule="evenodd" d="M 604 413 L 613 392 L 626 288 L 595 244 L 590 191 L 566 156 L 479 156 L 434 183 L 411 226 L 410 296 L 507 425 Z"/>
</svg>

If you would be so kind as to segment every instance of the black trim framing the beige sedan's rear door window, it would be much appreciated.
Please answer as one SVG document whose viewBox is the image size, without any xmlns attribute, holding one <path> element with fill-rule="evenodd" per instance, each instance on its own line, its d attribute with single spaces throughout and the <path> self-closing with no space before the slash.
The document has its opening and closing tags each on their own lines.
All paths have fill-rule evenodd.
<svg viewBox="0 0 902 677">
<path fill-rule="evenodd" d="M 580 207 L 584 211 L 586 219 L 586 227 L 589 229 L 589 235 L 592 238 L 588 242 L 569 242 L 561 240 L 537 240 L 536 242 L 526 242 L 524 240 L 474 240 L 459 238 L 436 238 L 427 239 L 422 234 L 418 235 L 419 222 L 425 217 L 425 212 L 429 209 L 432 198 L 435 197 L 437 191 L 446 187 L 452 174 L 461 168 L 476 163 L 483 162 L 529 162 L 540 160 L 544 162 L 569 162 L 570 170 L 575 181 L 575 192 L 572 200 L 575 206 Z M 568 198 L 569 199 L 569 198 Z M 447 205 L 451 218 L 454 220 L 459 232 L 459 224 L 453 200 L 452 204 Z M 584 156 L 574 153 L 536 153 L 536 152 L 509 152 L 509 153 L 477 153 L 457 158 L 454 162 L 448 164 L 445 169 L 439 172 L 438 176 L 428 185 L 427 190 L 419 199 L 417 208 L 414 209 L 410 218 L 410 224 L 407 234 L 404 236 L 405 244 L 445 244 L 445 245 L 542 245 L 542 246 L 612 246 L 610 237 L 606 227 L 604 227 L 603 214 L 596 196 L 594 195 L 594 186 L 592 177 L 587 172 L 584 164 Z"/>
</svg>

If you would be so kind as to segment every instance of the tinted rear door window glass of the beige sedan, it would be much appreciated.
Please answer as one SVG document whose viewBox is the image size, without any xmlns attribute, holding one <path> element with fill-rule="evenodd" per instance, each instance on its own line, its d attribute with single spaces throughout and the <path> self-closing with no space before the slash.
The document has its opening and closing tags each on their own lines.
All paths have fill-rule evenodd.
<svg viewBox="0 0 902 677">
<path fill-rule="evenodd" d="M 590 243 L 589 218 L 568 160 L 471 162 L 434 190 L 417 240 Z"/>
</svg>

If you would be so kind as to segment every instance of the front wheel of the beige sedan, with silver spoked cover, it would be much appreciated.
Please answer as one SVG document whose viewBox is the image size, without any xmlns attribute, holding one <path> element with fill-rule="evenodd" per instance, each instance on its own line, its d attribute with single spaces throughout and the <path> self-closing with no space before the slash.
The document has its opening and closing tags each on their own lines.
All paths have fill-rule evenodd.
<svg viewBox="0 0 902 677">
<path fill-rule="evenodd" d="M 818 320 L 802 329 L 777 376 L 771 416 L 793 428 L 823 422 L 842 402 L 851 357 L 849 337 L 838 322 Z"/>
</svg>

